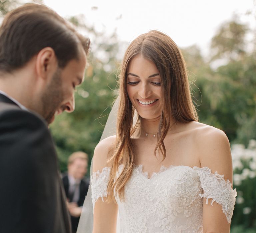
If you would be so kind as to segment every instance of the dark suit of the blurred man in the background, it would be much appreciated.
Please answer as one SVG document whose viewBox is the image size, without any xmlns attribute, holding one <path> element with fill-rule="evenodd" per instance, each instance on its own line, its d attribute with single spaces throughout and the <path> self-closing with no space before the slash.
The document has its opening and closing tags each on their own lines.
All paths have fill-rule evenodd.
<svg viewBox="0 0 256 233">
<path fill-rule="evenodd" d="M 69 196 L 69 181 L 68 181 L 68 175 L 65 174 L 62 178 L 63 184 L 64 184 L 64 189 L 65 189 L 65 193 L 66 196 L 69 198 L 70 202 L 72 202 L 72 197 Z M 89 187 L 89 182 L 87 182 L 86 180 L 81 180 L 80 182 L 80 195 L 79 195 L 79 200 L 77 202 L 78 206 L 83 206 L 84 204 L 84 199 L 85 196 L 87 195 L 87 191 L 88 191 L 88 187 Z M 72 230 L 73 232 L 77 230 L 77 226 L 78 226 L 78 222 L 79 222 L 79 218 L 80 217 L 73 217 L 71 216 L 71 224 L 72 224 Z"/>
</svg>

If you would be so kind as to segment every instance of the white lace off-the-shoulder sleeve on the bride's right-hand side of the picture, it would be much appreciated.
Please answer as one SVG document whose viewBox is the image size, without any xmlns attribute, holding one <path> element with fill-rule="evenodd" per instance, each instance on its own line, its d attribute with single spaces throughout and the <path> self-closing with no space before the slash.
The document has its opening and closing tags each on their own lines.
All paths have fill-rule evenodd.
<svg viewBox="0 0 256 233">
<path fill-rule="evenodd" d="M 215 201 L 222 205 L 222 211 L 226 215 L 228 223 L 230 223 L 237 196 L 236 189 L 232 189 L 232 184 L 229 180 L 226 181 L 223 178 L 224 175 L 217 172 L 212 174 L 208 167 L 194 167 L 194 169 L 197 170 L 204 190 L 204 193 L 199 195 L 201 198 L 206 198 L 206 204 L 208 204 L 208 199 L 212 198 L 212 203 Z"/>
</svg>

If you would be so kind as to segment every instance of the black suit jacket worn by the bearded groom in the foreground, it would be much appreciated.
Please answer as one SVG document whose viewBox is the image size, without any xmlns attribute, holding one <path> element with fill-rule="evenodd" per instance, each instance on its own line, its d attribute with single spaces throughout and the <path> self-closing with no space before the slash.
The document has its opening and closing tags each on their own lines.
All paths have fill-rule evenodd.
<svg viewBox="0 0 256 233">
<path fill-rule="evenodd" d="M 0 94 L 0 232 L 70 233 L 54 143 L 41 116 Z"/>
</svg>

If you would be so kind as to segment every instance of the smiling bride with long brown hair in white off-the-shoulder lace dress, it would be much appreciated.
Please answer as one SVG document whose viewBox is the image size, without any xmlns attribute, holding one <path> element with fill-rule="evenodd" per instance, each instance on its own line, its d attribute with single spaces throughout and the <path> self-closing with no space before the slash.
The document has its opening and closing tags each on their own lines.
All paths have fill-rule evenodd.
<svg viewBox="0 0 256 233">
<path fill-rule="evenodd" d="M 155 30 L 137 37 L 119 87 L 116 135 L 94 151 L 93 233 L 117 232 L 117 221 L 123 233 L 229 232 L 229 141 L 198 122 L 177 45 Z"/>
</svg>

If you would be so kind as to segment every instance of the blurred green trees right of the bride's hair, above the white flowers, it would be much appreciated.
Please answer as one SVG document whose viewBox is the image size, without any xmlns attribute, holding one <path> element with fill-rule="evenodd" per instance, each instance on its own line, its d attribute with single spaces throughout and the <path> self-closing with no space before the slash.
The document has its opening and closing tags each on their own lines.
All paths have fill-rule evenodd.
<svg viewBox="0 0 256 233">
<path fill-rule="evenodd" d="M 241 52 L 246 32 L 246 25 L 233 21 L 221 26 L 212 39 L 212 49 L 218 51 L 212 60 L 225 57 L 227 64 L 215 70 L 196 46 L 182 51 L 200 121 L 224 130 L 230 141 L 245 145 L 256 138 L 255 51 Z"/>
</svg>

